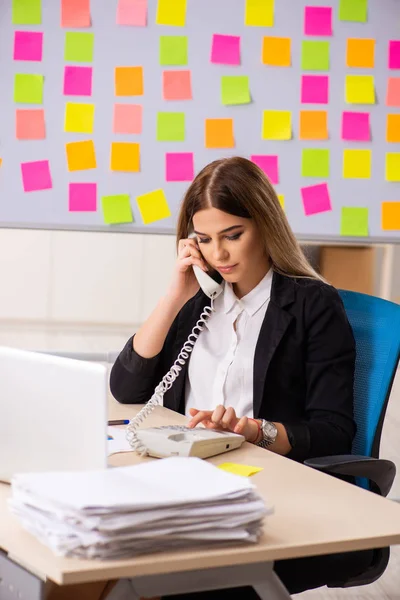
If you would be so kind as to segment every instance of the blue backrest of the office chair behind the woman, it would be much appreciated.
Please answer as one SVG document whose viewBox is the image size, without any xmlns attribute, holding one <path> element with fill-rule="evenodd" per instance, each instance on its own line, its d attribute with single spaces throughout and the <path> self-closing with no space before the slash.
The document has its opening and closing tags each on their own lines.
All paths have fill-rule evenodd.
<svg viewBox="0 0 400 600">
<path fill-rule="evenodd" d="M 386 407 L 400 358 L 400 305 L 339 290 L 356 341 L 353 454 L 379 457 Z"/>
</svg>

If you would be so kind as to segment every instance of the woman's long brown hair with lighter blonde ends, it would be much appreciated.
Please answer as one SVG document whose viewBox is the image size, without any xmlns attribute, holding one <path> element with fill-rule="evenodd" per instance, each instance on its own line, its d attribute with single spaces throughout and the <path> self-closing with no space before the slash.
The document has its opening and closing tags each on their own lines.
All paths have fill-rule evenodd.
<svg viewBox="0 0 400 600">
<path fill-rule="evenodd" d="M 177 247 L 191 232 L 196 212 L 210 207 L 253 219 L 277 273 L 323 280 L 305 257 L 274 188 L 255 163 L 235 156 L 215 160 L 200 171 L 180 208 Z"/>
</svg>

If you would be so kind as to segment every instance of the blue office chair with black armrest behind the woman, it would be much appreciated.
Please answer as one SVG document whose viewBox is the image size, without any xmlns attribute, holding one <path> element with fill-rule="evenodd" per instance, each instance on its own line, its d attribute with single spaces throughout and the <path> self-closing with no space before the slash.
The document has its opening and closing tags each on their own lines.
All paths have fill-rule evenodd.
<svg viewBox="0 0 400 600">
<path fill-rule="evenodd" d="M 379 458 L 383 421 L 400 359 L 400 305 L 339 290 L 356 341 L 354 416 L 357 434 L 352 454 L 310 459 L 306 465 L 332 475 L 355 478 L 356 485 L 387 496 L 396 466 Z M 367 585 L 389 562 L 390 549 L 374 551 L 368 571 L 332 587 Z"/>
</svg>

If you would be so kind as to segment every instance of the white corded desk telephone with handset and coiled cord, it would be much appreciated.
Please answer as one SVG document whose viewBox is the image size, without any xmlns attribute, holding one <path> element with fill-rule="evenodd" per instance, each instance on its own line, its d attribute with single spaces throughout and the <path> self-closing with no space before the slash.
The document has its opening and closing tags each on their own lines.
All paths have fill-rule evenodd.
<svg viewBox="0 0 400 600">
<path fill-rule="evenodd" d="M 191 234 L 190 237 L 195 236 Z M 182 370 L 182 366 L 189 358 L 189 354 L 192 352 L 197 338 L 203 331 L 207 319 L 215 310 L 215 298 L 223 290 L 223 287 L 218 282 L 207 275 L 197 265 L 193 265 L 193 271 L 201 289 L 211 299 L 211 306 L 204 307 L 199 320 L 184 343 L 170 371 L 162 378 L 147 404 L 145 404 L 127 426 L 126 437 L 131 447 L 141 454 L 148 454 L 156 458 L 166 456 L 197 456 L 199 458 L 207 458 L 239 448 L 245 441 L 242 435 L 236 433 L 214 431 L 205 428 L 190 429 L 189 427 L 182 426 L 166 426 L 138 429 L 151 411 L 159 404 L 162 404 L 165 392 L 172 387 L 175 379 Z"/>
</svg>

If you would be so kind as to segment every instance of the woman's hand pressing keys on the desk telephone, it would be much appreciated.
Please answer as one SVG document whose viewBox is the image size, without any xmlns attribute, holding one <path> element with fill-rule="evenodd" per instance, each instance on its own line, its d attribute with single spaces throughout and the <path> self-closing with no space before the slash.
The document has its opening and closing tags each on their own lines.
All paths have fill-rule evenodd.
<svg viewBox="0 0 400 600">
<path fill-rule="evenodd" d="M 188 427 L 196 427 L 199 423 L 203 423 L 207 429 L 232 431 L 243 435 L 248 442 L 255 443 L 257 441 L 259 434 L 257 423 L 248 417 L 237 417 L 235 409 L 231 406 L 225 408 L 220 404 L 214 411 L 191 408 L 190 414 L 192 419 L 189 421 Z"/>
</svg>

